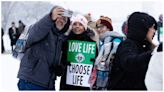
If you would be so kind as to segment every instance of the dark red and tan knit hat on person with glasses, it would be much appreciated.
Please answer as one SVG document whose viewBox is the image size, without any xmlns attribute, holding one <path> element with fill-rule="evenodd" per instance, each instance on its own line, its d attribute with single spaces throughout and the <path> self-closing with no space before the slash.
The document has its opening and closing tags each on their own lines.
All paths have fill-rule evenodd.
<svg viewBox="0 0 164 92">
<path fill-rule="evenodd" d="M 100 19 L 97 20 L 96 26 L 98 24 L 103 24 L 103 25 L 107 26 L 107 28 L 109 28 L 110 31 L 113 31 L 112 20 L 108 17 L 101 16 Z"/>
</svg>

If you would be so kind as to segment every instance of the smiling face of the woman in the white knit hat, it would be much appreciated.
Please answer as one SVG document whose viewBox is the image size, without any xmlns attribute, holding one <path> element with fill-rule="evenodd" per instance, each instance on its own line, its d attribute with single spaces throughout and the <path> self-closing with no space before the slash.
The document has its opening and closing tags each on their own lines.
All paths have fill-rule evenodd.
<svg viewBox="0 0 164 92">
<path fill-rule="evenodd" d="M 80 22 L 74 22 L 72 25 L 72 31 L 75 34 L 82 34 L 85 31 L 85 28 Z"/>
</svg>

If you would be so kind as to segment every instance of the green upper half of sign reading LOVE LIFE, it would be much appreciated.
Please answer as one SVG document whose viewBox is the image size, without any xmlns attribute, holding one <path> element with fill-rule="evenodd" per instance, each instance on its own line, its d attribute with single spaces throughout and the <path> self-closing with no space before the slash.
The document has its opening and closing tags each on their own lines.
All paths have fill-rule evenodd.
<svg viewBox="0 0 164 92">
<path fill-rule="evenodd" d="M 93 64 L 95 58 L 96 42 L 69 40 L 67 61 L 72 63 Z"/>
</svg>

